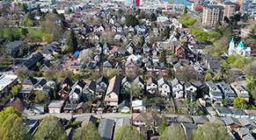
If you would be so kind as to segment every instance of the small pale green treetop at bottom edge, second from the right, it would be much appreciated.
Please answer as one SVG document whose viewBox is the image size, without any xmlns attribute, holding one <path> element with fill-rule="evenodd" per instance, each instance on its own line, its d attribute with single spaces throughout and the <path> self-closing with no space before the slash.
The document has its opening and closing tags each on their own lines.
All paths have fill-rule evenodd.
<svg viewBox="0 0 256 140">
<path fill-rule="evenodd" d="M 159 137 L 159 140 L 186 140 L 186 134 L 181 127 L 169 126 L 164 133 Z"/>
</svg>

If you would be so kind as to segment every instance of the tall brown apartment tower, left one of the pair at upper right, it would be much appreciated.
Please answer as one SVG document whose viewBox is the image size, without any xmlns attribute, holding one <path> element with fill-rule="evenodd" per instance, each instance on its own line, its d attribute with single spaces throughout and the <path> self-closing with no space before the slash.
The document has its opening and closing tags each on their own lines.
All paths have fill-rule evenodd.
<svg viewBox="0 0 256 140">
<path fill-rule="evenodd" d="M 202 24 L 208 24 L 211 27 L 214 27 L 217 21 L 223 22 L 223 20 L 224 20 L 223 6 L 212 4 L 203 8 Z"/>
</svg>

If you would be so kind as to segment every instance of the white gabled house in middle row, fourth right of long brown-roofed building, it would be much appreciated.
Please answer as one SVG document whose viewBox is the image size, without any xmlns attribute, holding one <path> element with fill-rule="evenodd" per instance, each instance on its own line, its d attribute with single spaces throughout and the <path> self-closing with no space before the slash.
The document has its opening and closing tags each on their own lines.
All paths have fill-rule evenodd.
<svg viewBox="0 0 256 140">
<path fill-rule="evenodd" d="M 157 85 L 159 93 L 162 95 L 162 97 L 169 99 L 170 95 L 172 94 L 172 87 L 170 83 L 166 81 L 164 77 L 162 77 L 159 81 L 157 81 Z"/>
</svg>

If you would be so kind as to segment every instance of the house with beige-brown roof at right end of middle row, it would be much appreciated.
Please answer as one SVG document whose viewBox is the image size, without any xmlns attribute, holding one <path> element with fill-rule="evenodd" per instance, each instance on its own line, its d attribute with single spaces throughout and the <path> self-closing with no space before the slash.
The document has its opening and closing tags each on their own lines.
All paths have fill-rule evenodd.
<svg viewBox="0 0 256 140">
<path fill-rule="evenodd" d="M 237 81 L 232 82 L 230 84 L 230 87 L 234 89 L 238 97 L 244 98 L 246 102 L 249 102 L 249 97 L 250 97 L 249 92 L 240 84 L 238 84 Z"/>
</svg>

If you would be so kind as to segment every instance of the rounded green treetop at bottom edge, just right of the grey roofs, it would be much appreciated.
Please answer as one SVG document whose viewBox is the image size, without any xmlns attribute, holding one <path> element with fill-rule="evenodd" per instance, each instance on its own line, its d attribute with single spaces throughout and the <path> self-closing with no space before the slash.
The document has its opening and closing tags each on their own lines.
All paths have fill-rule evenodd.
<svg viewBox="0 0 256 140">
<path fill-rule="evenodd" d="M 143 137 L 142 133 L 135 130 L 133 126 L 124 125 L 116 131 L 115 137 L 114 137 L 114 140 L 123 140 L 123 139 L 145 140 L 145 137 Z"/>
</svg>

